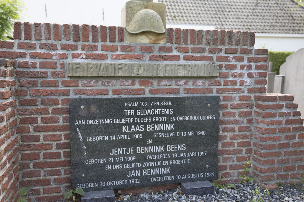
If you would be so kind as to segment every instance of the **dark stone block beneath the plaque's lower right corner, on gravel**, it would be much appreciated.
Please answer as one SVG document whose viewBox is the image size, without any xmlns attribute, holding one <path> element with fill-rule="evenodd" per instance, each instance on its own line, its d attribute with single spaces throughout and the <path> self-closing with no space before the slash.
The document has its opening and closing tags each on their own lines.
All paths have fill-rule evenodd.
<svg viewBox="0 0 304 202">
<path fill-rule="evenodd" d="M 181 183 L 181 190 L 186 196 L 202 196 L 214 194 L 214 185 L 209 181 L 185 182 Z"/>
</svg>

